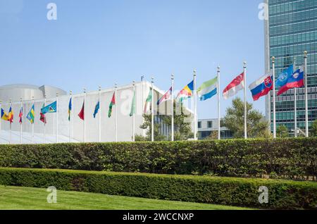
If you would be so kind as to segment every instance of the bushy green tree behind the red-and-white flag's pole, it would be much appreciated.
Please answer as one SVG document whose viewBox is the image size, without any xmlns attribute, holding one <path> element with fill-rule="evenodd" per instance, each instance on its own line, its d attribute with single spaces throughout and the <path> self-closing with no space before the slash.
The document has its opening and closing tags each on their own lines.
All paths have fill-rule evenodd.
<svg viewBox="0 0 317 224">
<path fill-rule="evenodd" d="M 227 108 L 222 125 L 231 130 L 235 138 L 244 137 L 244 102 L 240 98 L 232 100 L 232 107 Z M 268 121 L 249 103 L 247 103 L 247 135 L 253 138 L 272 136 Z"/>
</svg>

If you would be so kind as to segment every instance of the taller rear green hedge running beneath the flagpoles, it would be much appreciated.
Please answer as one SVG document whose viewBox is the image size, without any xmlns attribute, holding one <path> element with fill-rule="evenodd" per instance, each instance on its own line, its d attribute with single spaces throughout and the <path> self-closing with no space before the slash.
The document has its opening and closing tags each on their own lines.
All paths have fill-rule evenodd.
<svg viewBox="0 0 317 224">
<path fill-rule="evenodd" d="M 3 144 L 0 167 L 316 180 L 317 138 Z"/>
</svg>

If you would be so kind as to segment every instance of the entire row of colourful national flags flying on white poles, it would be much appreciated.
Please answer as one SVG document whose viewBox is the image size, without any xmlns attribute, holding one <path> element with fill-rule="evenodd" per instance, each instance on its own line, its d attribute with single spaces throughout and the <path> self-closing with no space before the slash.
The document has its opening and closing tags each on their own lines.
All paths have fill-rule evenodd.
<svg viewBox="0 0 317 224">
<path fill-rule="evenodd" d="M 223 90 L 223 98 L 228 99 L 229 97 L 234 96 L 239 92 L 241 89 L 244 88 L 244 73 L 241 73 L 237 77 L 235 77 L 230 84 L 225 87 Z M 212 80 L 204 82 L 198 89 L 197 94 L 201 101 L 205 101 L 207 99 L 210 99 L 214 95 L 217 94 L 218 91 L 218 77 L 214 77 Z M 258 100 L 260 97 L 266 96 L 268 92 L 272 90 L 273 83 L 273 77 L 272 75 L 264 75 L 263 77 L 260 77 L 259 80 L 256 80 L 255 82 L 251 83 L 249 85 L 249 89 L 251 91 L 252 97 L 254 101 Z M 275 81 L 275 87 L 279 87 L 278 90 L 278 96 L 284 92 L 286 92 L 288 89 L 292 89 L 295 87 L 302 87 L 304 86 L 304 68 L 300 67 L 297 70 L 294 71 L 294 66 L 290 66 L 289 68 L 285 69 L 278 75 L 278 79 Z M 158 101 L 157 105 L 162 104 L 164 101 L 168 101 L 172 98 L 172 87 L 168 89 L 166 94 L 163 95 Z M 176 100 L 179 103 L 182 103 L 182 101 L 185 101 L 186 99 L 193 96 L 194 92 L 194 80 L 192 82 L 189 82 L 188 85 L 186 85 L 177 95 Z M 108 109 L 108 117 L 111 117 L 113 106 L 116 105 L 116 93 L 113 93 L 113 97 L 111 99 L 111 102 L 109 104 Z M 144 105 L 144 113 L 147 112 L 147 108 L 149 103 L 152 100 L 152 91 L 150 89 L 149 95 L 145 101 Z M 100 102 L 98 101 L 93 116 L 96 118 L 97 113 L 99 112 L 100 108 Z M 40 120 L 43 123 L 46 123 L 45 114 L 46 113 L 56 113 L 57 111 L 57 101 L 54 101 L 53 103 L 45 106 L 43 104 L 41 112 L 40 112 Z M 70 113 L 72 111 L 72 98 L 70 98 L 69 104 L 68 104 L 68 120 L 70 120 Z M 130 116 L 132 116 L 135 113 L 135 92 L 133 93 L 133 99 L 132 99 L 132 106 L 130 111 Z M 82 104 L 82 109 L 80 110 L 80 113 L 78 114 L 79 118 L 82 120 L 85 120 L 85 102 Z M 8 113 L 4 111 L 3 108 L 1 108 L 1 119 L 7 120 L 10 123 L 13 123 L 13 110 L 10 106 Z M 19 113 L 19 122 L 22 123 L 22 117 L 23 117 L 23 107 L 20 108 Z M 30 120 L 30 123 L 34 123 L 35 120 L 35 105 L 33 104 L 30 108 L 29 113 L 27 113 L 26 118 Z"/>
</svg>

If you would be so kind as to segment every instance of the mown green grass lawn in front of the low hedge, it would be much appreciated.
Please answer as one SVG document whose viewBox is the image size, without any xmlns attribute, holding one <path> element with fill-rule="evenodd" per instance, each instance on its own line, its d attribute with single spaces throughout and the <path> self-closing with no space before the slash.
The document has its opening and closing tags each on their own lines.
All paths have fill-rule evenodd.
<svg viewBox="0 0 317 224">
<path fill-rule="evenodd" d="M 46 189 L 0 186 L 0 209 L 121 209 L 121 210 L 239 210 L 234 206 L 182 201 L 142 199 L 86 192 L 57 191 L 57 203 L 49 204 Z"/>
</svg>

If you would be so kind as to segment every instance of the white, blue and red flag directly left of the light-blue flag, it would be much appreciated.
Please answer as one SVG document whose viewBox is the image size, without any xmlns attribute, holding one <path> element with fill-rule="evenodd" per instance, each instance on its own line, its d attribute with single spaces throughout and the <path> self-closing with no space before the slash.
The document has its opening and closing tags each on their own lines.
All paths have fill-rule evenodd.
<svg viewBox="0 0 317 224">
<path fill-rule="evenodd" d="M 260 99 L 260 97 L 266 96 L 273 89 L 273 77 L 272 75 L 264 75 L 259 80 L 251 83 L 249 89 L 251 91 L 254 101 Z"/>
</svg>

